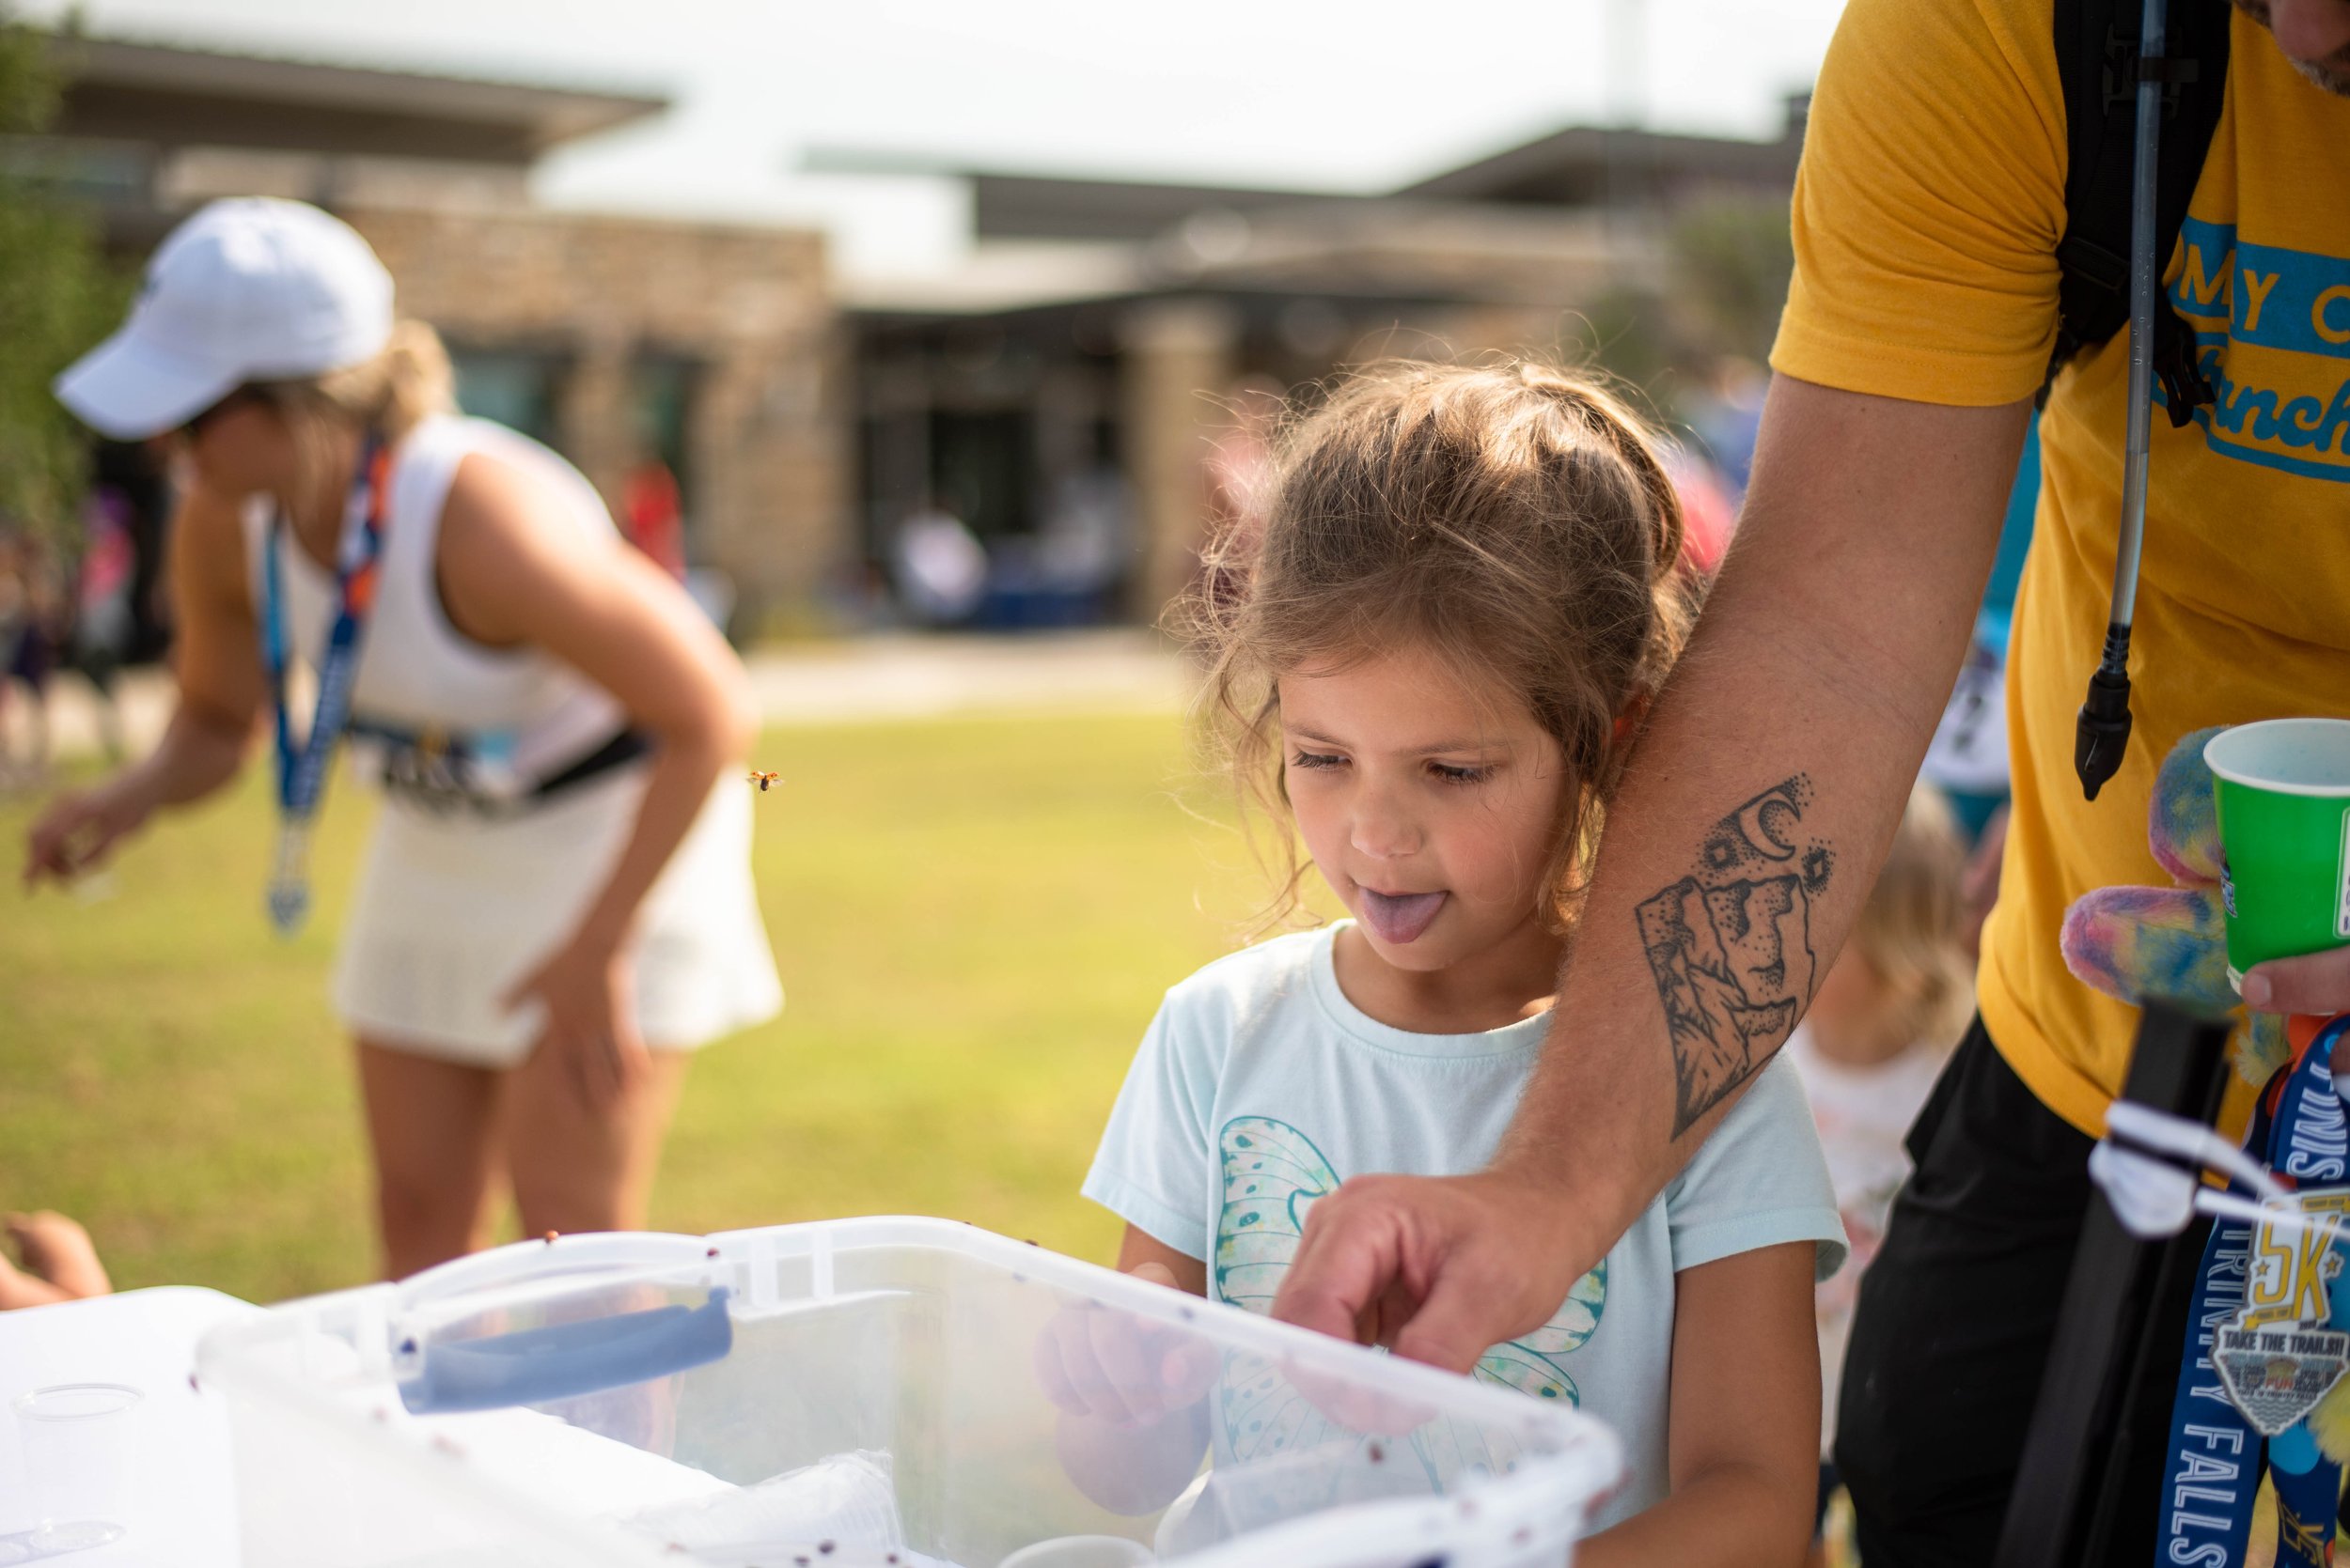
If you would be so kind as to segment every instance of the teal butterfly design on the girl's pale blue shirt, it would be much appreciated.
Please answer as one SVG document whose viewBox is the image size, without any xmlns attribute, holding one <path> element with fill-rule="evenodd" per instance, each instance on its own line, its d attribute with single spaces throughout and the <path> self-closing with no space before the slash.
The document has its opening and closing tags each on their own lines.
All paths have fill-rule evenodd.
<svg viewBox="0 0 2350 1568">
<path fill-rule="evenodd" d="M 1215 1225 L 1217 1300 L 1269 1314 L 1281 1277 L 1297 1261 L 1307 1211 L 1337 1190 L 1340 1176 L 1314 1138 L 1274 1117 L 1234 1117 L 1217 1136 L 1224 1209 Z M 1607 1305 L 1607 1261 L 1574 1282 L 1549 1324 L 1488 1350 L 1478 1383 L 1582 1404 L 1563 1357 L 1591 1338 Z M 1241 1462 L 1311 1448 L 1344 1427 L 1328 1420 L 1260 1354 L 1234 1352 L 1217 1390 L 1229 1451 Z M 1518 1441 L 1506 1432 L 1438 1420 L 1412 1432 L 1412 1451 L 1436 1486 L 1459 1474 L 1516 1469 Z"/>
</svg>

